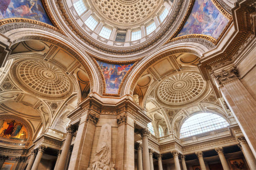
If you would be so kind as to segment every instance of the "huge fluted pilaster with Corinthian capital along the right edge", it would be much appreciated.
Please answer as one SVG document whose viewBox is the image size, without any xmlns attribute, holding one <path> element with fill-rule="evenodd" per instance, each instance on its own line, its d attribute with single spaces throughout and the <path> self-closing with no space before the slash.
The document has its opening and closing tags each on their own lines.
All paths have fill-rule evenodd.
<svg viewBox="0 0 256 170">
<path fill-rule="evenodd" d="M 256 99 L 239 79 L 236 67 L 215 73 L 213 77 L 256 157 Z"/>
</svg>

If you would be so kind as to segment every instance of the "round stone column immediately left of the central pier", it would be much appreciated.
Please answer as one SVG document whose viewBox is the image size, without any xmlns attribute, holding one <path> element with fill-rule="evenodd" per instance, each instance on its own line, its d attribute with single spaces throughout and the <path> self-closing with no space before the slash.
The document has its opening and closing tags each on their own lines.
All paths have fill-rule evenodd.
<svg viewBox="0 0 256 170">
<path fill-rule="evenodd" d="M 72 125 L 69 125 L 67 127 L 67 136 L 66 136 L 66 139 L 65 139 L 62 151 L 61 151 L 59 162 L 58 162 L 58 164 L 56 164 L 57 165 L 56 170 L 64 170 L 65 169 L 65 165 L 67 163 L 67 158 L 68 158 L 68 155 L 69 155 L 70 145 L 71 145 L 71 142 L 72 142 L 73 133 L 74 133 L 74 128 L 73 128 Z"/>
</svg>

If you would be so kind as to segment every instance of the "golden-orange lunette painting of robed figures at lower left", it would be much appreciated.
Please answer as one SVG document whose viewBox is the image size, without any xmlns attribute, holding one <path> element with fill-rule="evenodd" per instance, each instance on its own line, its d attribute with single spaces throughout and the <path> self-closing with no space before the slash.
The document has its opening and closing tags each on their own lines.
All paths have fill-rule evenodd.
<svg viewBox="0 0 256 170">
<path fill-rule="evenodd" d="M 0 137 L 13 140 L 27 140 L 28 130 L 23 123 L 13 119 L 0 120 Z"/>
</svg>

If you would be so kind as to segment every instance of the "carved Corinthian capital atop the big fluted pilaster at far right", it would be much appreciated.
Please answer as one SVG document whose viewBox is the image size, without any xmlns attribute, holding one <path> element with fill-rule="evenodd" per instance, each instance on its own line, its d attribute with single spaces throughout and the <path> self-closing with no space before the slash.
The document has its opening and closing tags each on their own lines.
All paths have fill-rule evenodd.
<svg viewBox="0 0 256 170">
<path fill-rule="evenodd" d="M 213 77 L 221 85 L 223 83 L 237 79 L 239 75 L 238 75 L 238 70 L 234 66 L 228 70 L 222 70 L 220 73 L 214 74 Z"/>
</svg>

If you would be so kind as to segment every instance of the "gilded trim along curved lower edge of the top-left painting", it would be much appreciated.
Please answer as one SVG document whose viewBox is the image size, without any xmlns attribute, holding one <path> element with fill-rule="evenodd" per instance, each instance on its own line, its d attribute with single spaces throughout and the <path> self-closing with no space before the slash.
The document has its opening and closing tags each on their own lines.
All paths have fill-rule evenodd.
<svg viewBox="0 0 256 170">
<path fill-rule="evenodd" d="M 59 30 L 58 28 L 51 26 L 49 24 L 43 23 L 41 21 L 37 21 L 37 20 L 31 20 L 31 19 L 27 19 L 27 18 L 6 18 L 3 20 L 0 20 L 0 26 L 9 24 L 9 23 L 32 23 L 32 24 L 41 25 L 41 26 L 44 26 L 44 27 L 47 27 L 47 28 L 50 28 L 52 30 L 62 33 L 62 31 Z"/>
</svg>

